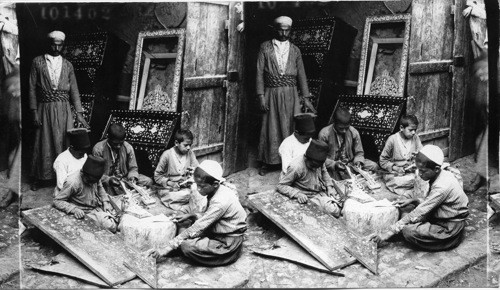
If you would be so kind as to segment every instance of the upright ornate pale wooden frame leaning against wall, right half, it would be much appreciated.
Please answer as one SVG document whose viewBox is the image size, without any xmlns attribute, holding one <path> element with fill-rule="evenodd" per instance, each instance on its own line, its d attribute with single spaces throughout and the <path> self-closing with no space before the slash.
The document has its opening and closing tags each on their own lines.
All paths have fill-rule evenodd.
<svg viewBox="0 0 500 290">
<path fill-rule="evenodd" d="M 404 96 L 405 83 L 406 83 L 406 70 L 408 63 L 408 50 L 410 42 L 410 14 L 400 15 L 387 15 L 387 16 L 372 16 L 366 18 L 365 29 L 363 32 L 363 45 L 361 49 L 361 60 L 359 65 L 358 75 L 358 88 L 357 94 L 370 94 L 371 83 L 373 78 L 373 71 L 376 62 L 377 49 L 379 44 L 401 43 L 402 54 L 401 64 L 399 66 L 399 81 L 397 83 L 397 93 L 399 97 Z M 372 24 L 383 23 L 403 23 L 404 35 L 402 38 L 375 38 L 371 37 Z M 373 43 L 371 48 L 370 57 L 368 58 L 368 48 L 370 40 Z M 368 70 L 367 68 L 368 63 Z"/>
</svg>

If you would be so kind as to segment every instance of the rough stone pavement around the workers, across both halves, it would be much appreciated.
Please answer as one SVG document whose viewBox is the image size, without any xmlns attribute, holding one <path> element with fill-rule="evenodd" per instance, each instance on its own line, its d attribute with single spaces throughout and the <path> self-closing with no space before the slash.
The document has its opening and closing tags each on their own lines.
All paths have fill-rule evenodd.
<svg viewBox="0 0 500 290">
<path fill-rule="evenodd" d="M 459 169 L 468 182 L 470 158 L 458 162 Z M 255 168 L 238 172 L 228 180 L 239 188 L 240 200 L 248 207 L 247 195 L 275 187 L 279 172 L 266 176 L 257 174 Z M 52 192 L 43 189 L 36 192 L 30 205 L 43 206 L 50 201 Z M 34 194 L 31 194 L 34 195 Z M 41 196 L 43 195 L 43 196 Z M 25 195 L 25 197 L 30 194 Z M 35 197 L 33 196 L 33 197 Z M 31 197 L 30 197 L 31 198 Z M 336 277 L 310 270 L 290 262 L 264 258 L 252 254 L 252 249 L 268 249 L 284 236 L 284 233 L 259 212 L 249 213 L 249 230 L 245 237 L 244 253 L 240 260 L 228 267 L 199 267 L 182 257 L 169 258 L 158 264 L 160 287 L 432 287 L 454 273 L 460 273 L 486 257 L 486 199 L 484 187 L 469 194 L 470 219 L 467 221 L 464 242 L 447 252 L 422 252 L 411 249 L 402 240 L 395 240 L 379 248 L 379 275 L 375 276 L 361 264 L 356 263 L 341 270 L 345 277 Z M 42 201 L 42 202 L 39 202 Z M 41 204 L 38 204 L 41 203 Z M 21 206 L 23 208 L 24 206 Z M 94 288 L 95 286 L 74 279 L 36 272 L 28 267 L 32 263 L 49 263 L 51 258 L 62 251 L 53 241 L 36 228 L 29 228 L 21 238 L 22 264 L 24 267 L 22 285 L 27 288 Z M 167 267 L 174 263 L 177 267 Z M 497 264 L 498 265 L 498 264 Z M 175 270 L 172 270 L 175 269 Z M 478 278 L 471 287 L 485 287 L 484 279 Z M 175 277 L 175 279 L 171 279 Z M 490 284 L 491 285 L 491 284 Z M 147 288 L 139 279 L 124 285 L 124 288 Z"/>
</svg>

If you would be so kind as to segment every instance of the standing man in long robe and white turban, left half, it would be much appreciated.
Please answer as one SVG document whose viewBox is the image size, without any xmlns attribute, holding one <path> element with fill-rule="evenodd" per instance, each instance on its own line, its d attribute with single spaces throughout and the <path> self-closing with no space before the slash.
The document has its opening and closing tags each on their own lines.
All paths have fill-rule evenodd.
<svg viewBox="0 0 500 290">
<path fill-rule="evenodd" d="M 73 65 L 61 56 L 65 35 L 53 31 L 47 36 L 48 51 L 33 59 L 29 78 L 29 107 L 36 127 L 34 136 L 31 189 L 37 190 L 38 181 L 56 178 L 52 164 L 66 150 L 66 132 L 73 128 L 75 107 L 77 120 L 88 128 L 83 117 L 80 93 Z"/>
</svg>

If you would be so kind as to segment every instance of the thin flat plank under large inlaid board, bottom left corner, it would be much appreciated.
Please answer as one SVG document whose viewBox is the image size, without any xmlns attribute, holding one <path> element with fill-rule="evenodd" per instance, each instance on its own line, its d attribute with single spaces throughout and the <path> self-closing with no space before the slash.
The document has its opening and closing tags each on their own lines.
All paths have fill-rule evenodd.
<svg viewBox="0 0 500 290">
<path fill-rule="evenodd" d="M 65 252 L 55 256 L 52 259 L 52 263 L 49 265 L 30 265 L 30 267 L 42 272 L 61 274 L 100 287 L 108 286 L 106 282 L 94 275 L 94 273 L 87 269 L 82 263 Z"/>
</svg>

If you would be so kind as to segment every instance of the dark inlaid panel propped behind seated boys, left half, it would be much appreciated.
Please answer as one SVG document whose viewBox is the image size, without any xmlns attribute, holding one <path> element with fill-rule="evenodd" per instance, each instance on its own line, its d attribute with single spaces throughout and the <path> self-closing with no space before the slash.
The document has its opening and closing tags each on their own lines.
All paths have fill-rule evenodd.
<svg viewBox="0 0 500 290">
<path fill-rule="evenodd" d="M 136 151 L 139 170 L 142 167 L 141 163 L 142 165 L 148 163 L 154 169 L 178 128 L 180 117 L 181 113 L 175 112 L 112 110 L 101 139 L 106 137 L 110 124 L 121 123 L 127 134 L 125 140 Z M 147 173 L 150 171 L 146 168 L 142 169 L 147 170 Z M 147 173 L 144 174 L 147 175 Z"/>
</svg>

